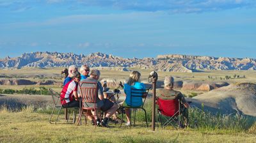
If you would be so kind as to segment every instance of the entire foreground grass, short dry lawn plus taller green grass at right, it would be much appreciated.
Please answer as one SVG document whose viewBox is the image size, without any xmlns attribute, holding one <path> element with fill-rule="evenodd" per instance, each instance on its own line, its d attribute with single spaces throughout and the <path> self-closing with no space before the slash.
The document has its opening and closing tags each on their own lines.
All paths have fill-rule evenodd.
<svg viewBox="0 0 256 143">
<path fill-rule="evenodd" d="M 151 118 L 150 102 L 145 109 Z M 137 113 L 135 127 L 110 124 L 103 128 L 67 123 L 63 112 L 57 124 L 50 124 L 51 108 L 20 110 L 0 108 L 0 142 L 255 142 L 256 123 L 251 118 L 211 115 L 202 110 L 189 110 L 189 128 L 172 126 L 152 131 L 143 123 L 143 112 Z M 56 117 L 56 114 L 54 114 Z M 193 127 L 197 121 L 198 126 Z M 254 125 L 253 125 L 254 124 Z"/>
</svg>

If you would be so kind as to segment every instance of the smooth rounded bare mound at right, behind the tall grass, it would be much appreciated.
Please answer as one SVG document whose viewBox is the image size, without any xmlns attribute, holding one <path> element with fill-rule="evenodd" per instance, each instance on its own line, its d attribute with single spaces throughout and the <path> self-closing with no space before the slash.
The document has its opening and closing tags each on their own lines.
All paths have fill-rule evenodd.
<svg viewBox="0 0 256 143">
<path fill-rule="evenodd" d="M 204 109 L 212 112 L 256 116 L 256 84 L 230 84 L 188 100 L 199 108 L 204 103 Z"/>
</svg>

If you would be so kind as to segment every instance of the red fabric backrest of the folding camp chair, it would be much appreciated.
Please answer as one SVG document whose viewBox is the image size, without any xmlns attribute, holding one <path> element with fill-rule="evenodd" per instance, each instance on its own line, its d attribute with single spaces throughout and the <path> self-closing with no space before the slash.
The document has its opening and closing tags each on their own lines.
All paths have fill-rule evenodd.
<svg viewBox="0 0 256 143">
<path fill-rule="evenodd" d="M 179 112 L 179 100 L 173 99 L 173 100 L 163 100 L 161 98 L 157 98 L 157 105 L 158 110 L 163 114 L 164 116 L 172 117 L 172 116 L 178 116 L 177 112 Z"/>
</svg>

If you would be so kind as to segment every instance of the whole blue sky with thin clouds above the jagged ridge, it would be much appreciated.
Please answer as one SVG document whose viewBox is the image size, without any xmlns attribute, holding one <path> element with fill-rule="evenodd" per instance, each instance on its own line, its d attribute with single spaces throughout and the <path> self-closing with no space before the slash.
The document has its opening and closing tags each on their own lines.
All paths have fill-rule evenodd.
<svg viewBox="0 0 256 143">
<path fill-rule="evenodd" d="M 24 52 L 256 58 L 252 0 L 0 0 L 0 58 Z"/>
</svg>

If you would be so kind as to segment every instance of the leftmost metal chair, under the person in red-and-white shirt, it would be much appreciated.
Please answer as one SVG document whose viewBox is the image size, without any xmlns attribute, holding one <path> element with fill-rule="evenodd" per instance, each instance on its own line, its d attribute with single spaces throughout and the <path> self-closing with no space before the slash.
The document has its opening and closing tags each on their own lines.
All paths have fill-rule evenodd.
<svg viewBox="0 0 256 143">
<path fill-rule="evenodd" d="M 51 89 L 51 88 L 49 88 L 49 91 L 50 91 L 50 93 L 51 93 L 52 101 L 53 101 L 53 103 L 54 103 L 54 107 L 53 107 L 53 109 L 52 109 L 52 114 L 51 114 L 51 117 L 50 117 L 50 119 L 49 119 L 49 122 L 52 124 L 52 120 L 51 120 L 51 119 L 52 119 L 52 116 L 53 116 L 53 114 L 54 114 L 54 110 L 55 110 L 55 109 L 58 109 L 58 114 L 57 114 L 57 117 L 56 117 L 56 120 L 55 120 L 55 124 L 56 124 L 56 123 L 57 123 L 57 120 L 58 120 L 58 117 L 59 117 L 59 115 L 60 115 L 61 109 L 67 109 L 67 108 L 62 107 L 61 102 L 63 102 L 63 101 L 60 101 L 60 93 L 57 93 L 56 91 L 54 91 L 54 90 Z M 73 121 L 72 121 L 72 123 L 74 124 L 74 123 L 76 123 L 76 109 L 77 109 L 77 107 L 72 107 L 72 108 L 70 108 L 70 109 L 72 109 L 72 111 L 73 111 Z M 69 114 L 70 114 L 70 110 L 69 110 L 69 112 L 68 112 L 67 122 L 68 122 L 68 119 L 69 119 Z"/>
</svg>

